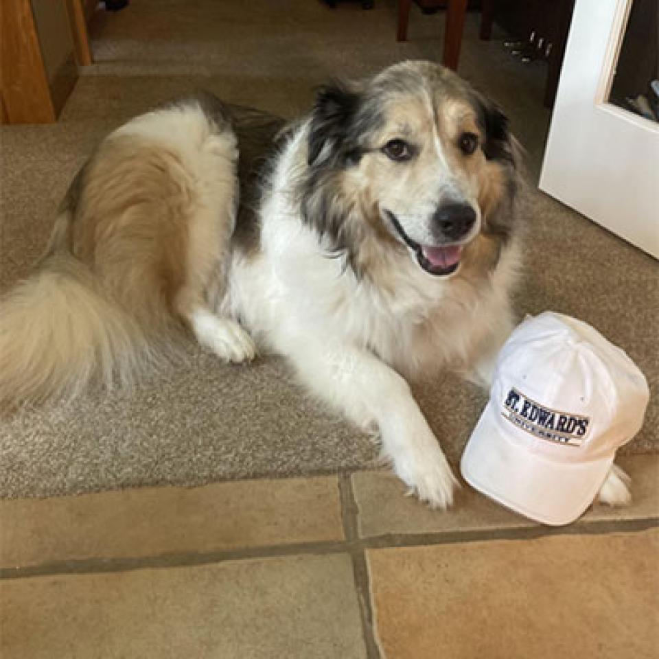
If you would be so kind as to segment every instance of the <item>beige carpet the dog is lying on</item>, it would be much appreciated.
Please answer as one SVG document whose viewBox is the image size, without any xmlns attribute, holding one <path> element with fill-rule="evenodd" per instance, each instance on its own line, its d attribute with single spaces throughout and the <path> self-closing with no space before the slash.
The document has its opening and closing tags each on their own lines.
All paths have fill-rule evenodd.
<svg viewBox="0 0 659 659">
<path fill-rule="evenodd" d="M 91 146 L 132 115 L 206 87 L 292 117 L 331 76 L 365 75 L 402 58 L 441 58 L 442 14 L 413 8 L 410 41 L 397 44 L 395 1 L 375 5 L 364 12 L 348 1 L 329 10 L 316 0 L 132 0 L 117 14 L 100 12 L 96 63 L 84 71 L 58 124 L 1 130 L 1 288 L 29 272 Z M 468 16 L 460 72 L 505 107 L 529 152 L 534 182 L 549 119 L 544 69 L 509 58 L 502 35 L 484 43 L 477 31 L 478 17 Z M 527 215 L 520 317 L 551 309 L 592 323 L 638 362 L 656 397 L 654 259 L 539 192 L 531 192 Z M 416 389 L 456 461 L 485 395 L 450 375 Z M 653 402 L 625 451 L 657 450 L 658 422 Z M 190 345 L 185 364 L 138 391 L 92 395 L 0 424 L 0 495 L 325 472 L 365 467 L 375 454 L 367 437 L 306 397 L 280 360 L 227 367 Z"/>
</svg>

